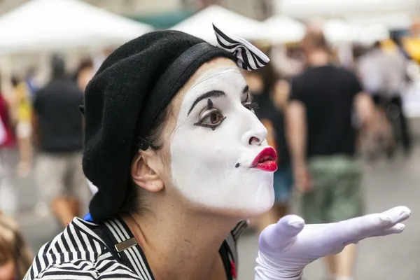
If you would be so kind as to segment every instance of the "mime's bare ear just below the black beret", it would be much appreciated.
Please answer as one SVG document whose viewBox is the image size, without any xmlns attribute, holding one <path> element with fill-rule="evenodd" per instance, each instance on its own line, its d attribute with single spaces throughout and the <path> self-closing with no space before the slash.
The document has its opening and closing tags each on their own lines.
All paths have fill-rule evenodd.
<svg viewBox="0 0 420 280">
<path fill-rule="evenodd" d="M 132 160 L 131 177 L 137 186 L 152 193 L 158 193 L 164 186 L 158 174 L 148 167 L 147 161 L 141 156 L 141 153 L 137 153 Z"/>
</svg>

